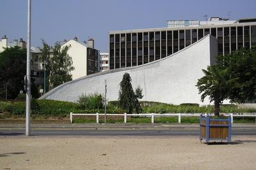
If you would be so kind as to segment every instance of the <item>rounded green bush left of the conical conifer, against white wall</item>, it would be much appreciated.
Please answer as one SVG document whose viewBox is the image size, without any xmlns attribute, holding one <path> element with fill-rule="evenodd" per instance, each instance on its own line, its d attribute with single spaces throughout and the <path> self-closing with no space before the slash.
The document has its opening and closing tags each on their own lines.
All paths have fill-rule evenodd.
<svg viewBox="0 0 256 170">
<path fill-rule="evenodd" d="M 103 109 L 103 99 L 100 94 L 82 94 L 78 100 L 77 104 L 80 109 Z"/>
</svg>

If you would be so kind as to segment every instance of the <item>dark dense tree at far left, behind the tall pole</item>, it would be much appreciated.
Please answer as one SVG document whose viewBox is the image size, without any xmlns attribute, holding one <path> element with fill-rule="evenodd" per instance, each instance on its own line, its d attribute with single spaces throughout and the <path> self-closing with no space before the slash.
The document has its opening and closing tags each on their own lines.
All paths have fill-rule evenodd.
<svg viewBox="0 0 256 170">
<path fill-rule="evenodd" d="M 26 49 L 20 47 L 6 48 L 0 53 L 0 98 L 16 98 L 23 89 L 26 54 Z"/>
</svg>

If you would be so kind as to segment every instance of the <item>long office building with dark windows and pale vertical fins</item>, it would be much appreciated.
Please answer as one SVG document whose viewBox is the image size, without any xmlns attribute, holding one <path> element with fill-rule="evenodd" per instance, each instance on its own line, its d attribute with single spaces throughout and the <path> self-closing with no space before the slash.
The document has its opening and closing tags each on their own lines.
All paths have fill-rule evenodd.
<svg viewBox="0 0 256 170">
<path fill-rule="evenodd" d="M 175 22 L 173 22 L 175 24 Z M 191 26 L 192 24 L 195 24 Z M 138 66 L 166 58 L 206 35 L 218 40 L 218 54 L 256 45 L 256 19 L 177 22 L 178 26 L 109 32 L 109 69 Z M 196 57 L 196 56 L 195 56 Z"/>
</svg>

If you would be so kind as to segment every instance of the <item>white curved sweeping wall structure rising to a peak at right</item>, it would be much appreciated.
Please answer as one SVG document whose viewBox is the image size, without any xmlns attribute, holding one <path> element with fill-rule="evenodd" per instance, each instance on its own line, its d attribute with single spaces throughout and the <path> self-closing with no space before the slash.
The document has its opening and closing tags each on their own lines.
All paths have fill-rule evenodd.
<svg viewBox="0 0 256 170">
<path fill-rule="evenodd" d="M 124 73 L 129 73 L 133 88 L 140 86 L 143 89 L 142 100 L 169 104 L 209 104 L 209 100 L 200 102 L 195 84 L 204 76 L 202 69 L 214 64 L 214 58 L 218 54 L 217 48 L 216 38 L 207 35 L 167 58 L 146 65 L 119 68 L 81 77 L 61 84 L 41 98 L 76 102 L 82 93 L 103 95 L 106 79 L 108 101 L 118 100 L 119 83 Z"/>
</svg>

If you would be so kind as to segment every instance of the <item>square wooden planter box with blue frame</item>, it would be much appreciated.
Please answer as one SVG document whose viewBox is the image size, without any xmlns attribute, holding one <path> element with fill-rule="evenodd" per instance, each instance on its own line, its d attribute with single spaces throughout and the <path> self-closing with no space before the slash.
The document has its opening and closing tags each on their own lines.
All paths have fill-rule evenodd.
<svg viewBox="0 0 256 170">
<path fill-rule="evenodd" d="M 200 141 L 227 141 L 231 142 L 231 118 L 211 119 L 200 115 Z"/>
</svg>

